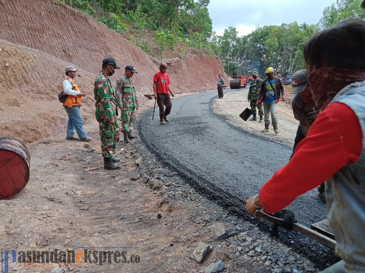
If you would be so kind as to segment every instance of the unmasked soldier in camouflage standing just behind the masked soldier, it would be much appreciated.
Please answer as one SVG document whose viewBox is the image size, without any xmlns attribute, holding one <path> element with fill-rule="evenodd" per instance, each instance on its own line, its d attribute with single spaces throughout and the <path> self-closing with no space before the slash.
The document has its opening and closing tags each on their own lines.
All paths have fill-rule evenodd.
<svg viewBox="0 0 365 273">
<path fill-rule="evenodd" d="M 138 73 L 132 65 L 128 65 L 125 68 L 123 77 L 116 80 L 116 94 L 117 104 L 122 110 L 122 132 L 124 135 L 124 142 L 131 142 L 130 139 L 136 138 L 136 135 L 132 135 L 132 129 L 136 121 L 135 111 L 138 110 L 138 99 L 134 87 L 133 80 L 131 79 L 134 73 Z"/>
</svg>

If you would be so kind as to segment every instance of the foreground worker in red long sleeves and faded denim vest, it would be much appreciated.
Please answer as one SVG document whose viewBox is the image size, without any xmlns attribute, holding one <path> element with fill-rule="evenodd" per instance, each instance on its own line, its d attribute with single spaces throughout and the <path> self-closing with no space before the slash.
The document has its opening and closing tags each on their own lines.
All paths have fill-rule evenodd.
<svg viewBox="0 0 365 273">
<path fill-rule="evenodd" d="M 345 20 L 308 39 L 308 84 L 321 113 L 288 164 L 246 201 L 251 214 L 261 207 L 274 213 L 326 181 L 327 219 L 342 261 L 322 273 L 365 272 L 364 37 L 365 21 Z"/>
</svg>

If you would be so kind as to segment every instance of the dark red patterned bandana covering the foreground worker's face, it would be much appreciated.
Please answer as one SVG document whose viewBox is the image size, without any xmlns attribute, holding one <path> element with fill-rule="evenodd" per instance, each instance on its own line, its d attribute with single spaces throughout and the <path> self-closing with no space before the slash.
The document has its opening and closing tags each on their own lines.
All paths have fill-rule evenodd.
<svg viewBox="0 0 365 273">
<path fill-rule="evenodd" d="M 316 106 L 323 110 L 342 88 L 364 81 L 365 69 L 324 66 L 309 74 L 307 79 Z"/>
</svg>

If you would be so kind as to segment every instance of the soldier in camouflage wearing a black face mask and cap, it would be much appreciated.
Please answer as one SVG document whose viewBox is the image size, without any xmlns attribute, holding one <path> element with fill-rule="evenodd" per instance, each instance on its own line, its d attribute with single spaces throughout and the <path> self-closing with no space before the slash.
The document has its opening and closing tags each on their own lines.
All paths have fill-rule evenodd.
<svg viewBox="0 0 365 273">
<path fill-rule="evenodd" d="M 113 157 L 117 142 L 119 141 L 119 127 L 117 121 L 116 96 L 109 77 L 114 74 L 116 65 L 113 58 L 105 58 L 100 75 L 94 82 L 95 117 L 99 122 L 101 139 L 101 155 L 104 157 L 104 169 L 116 170 L 122 166 L 115 164 L 120 158 Z"/>
</svg>

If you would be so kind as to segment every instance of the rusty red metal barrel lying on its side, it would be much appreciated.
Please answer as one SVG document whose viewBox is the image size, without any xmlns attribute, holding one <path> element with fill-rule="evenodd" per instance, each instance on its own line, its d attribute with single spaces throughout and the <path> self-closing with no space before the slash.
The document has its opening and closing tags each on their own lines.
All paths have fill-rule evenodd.
<svg viewBox="0 0 365 273">
<path fill-rule="evenodd" d="M 0 138 L 0 200 L 20 193 L 29 181 L 30 154 L 15 138 Z"/>
</svg>

